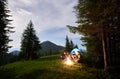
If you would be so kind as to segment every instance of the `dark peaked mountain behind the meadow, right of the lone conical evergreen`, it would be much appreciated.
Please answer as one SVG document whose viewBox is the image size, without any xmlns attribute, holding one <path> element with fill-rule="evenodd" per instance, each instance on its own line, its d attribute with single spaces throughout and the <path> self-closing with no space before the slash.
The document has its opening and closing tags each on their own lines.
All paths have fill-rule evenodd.
<svg viewBox="0 0 120 79">
<path fill-rule="evenodd" d="M 40 54 L 56 54 L 60 51 L 64 50 L 65 47 L 56 45 L 50 41 L 44 41 L 41 43 L 42 49 L 40 50 Z"/>
</svg>

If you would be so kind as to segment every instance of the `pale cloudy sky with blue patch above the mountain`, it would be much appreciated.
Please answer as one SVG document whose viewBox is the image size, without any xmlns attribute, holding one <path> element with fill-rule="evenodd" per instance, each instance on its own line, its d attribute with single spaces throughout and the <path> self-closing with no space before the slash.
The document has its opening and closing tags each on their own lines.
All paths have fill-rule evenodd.
<svg viewBox="0 0 120 79">
<path fill-rule="evenodd" d="M 66 35 L 81 47 L 81 35 L 72 34 L 66 25 L 75 26 L 76 16 L 73 7 L 77 0 L 8 0 L 11 11 L 12 26 L 15 33 L 10 34 L 13 39 L 11 50 L 19 50 L 21 37 L 27 24 L 32 20 L 36 34 L 41 42 L 51 41 L 65 46 Z"/>
</svg>

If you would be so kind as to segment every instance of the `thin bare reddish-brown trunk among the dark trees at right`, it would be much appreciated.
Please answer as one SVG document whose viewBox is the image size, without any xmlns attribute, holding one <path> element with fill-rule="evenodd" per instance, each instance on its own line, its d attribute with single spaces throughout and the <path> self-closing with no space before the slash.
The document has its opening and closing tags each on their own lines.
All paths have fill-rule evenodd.
<svg viewBox="0 0 120 79">
<path fill-rule="evenodd" d="M 105 40 L 104 40 L 104 31 L 102 31 L 102 47 L 103 47 L 103 56 L 104 56 L 104 70 L 107 70 L 107 56 L 105 49 Z"/>
</svg>

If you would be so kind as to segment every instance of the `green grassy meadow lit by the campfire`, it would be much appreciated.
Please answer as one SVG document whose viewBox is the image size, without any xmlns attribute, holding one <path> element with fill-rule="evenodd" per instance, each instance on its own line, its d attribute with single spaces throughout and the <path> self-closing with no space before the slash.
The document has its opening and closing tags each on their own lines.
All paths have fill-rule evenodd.
<svg viewBox="0 0 120 79">
<path fill-rule="evenodd" d="M 0 79 L 110 79 L 103 70 L 83 64 L 68 66 L 60 55 L 44 56 L 33 61 L 19 61 L 0 67 Z"/>
</svg>

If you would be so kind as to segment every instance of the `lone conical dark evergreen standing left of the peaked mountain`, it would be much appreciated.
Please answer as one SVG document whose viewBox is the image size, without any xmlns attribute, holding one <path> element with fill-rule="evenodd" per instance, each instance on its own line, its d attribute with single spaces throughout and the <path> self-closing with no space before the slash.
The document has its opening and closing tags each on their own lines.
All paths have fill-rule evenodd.
<svg viewBox="0 0 120 79">
<path fill-rule="evenodd" d="M 41 49 L 40 41 L 36 36 L 32 21 L 29 22 L 22 35 L 20 57 L 25 60 L 37 58 L 37 53 Z"/>
</svg>

